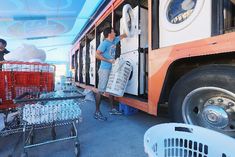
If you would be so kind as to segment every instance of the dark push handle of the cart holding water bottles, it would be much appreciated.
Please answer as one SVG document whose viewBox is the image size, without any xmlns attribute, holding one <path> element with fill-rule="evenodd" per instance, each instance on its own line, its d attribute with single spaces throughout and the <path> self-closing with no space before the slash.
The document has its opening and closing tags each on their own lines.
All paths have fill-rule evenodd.
<svg viewBox="0 0 235 157">
<path fill-rule="evenodd" d="M 84 98 L 85 95 L 79 96 L 69 96 L 69 97 L 55 97 L 55 98 L 33 98 L 33 99 L 13 99 L 15 104 L 28 103 L 28 102 L 39 102 L 39 101 L 53 101 L 53 100 L 69 100 L 69 99 L 79 99 Z"/>
</svg>

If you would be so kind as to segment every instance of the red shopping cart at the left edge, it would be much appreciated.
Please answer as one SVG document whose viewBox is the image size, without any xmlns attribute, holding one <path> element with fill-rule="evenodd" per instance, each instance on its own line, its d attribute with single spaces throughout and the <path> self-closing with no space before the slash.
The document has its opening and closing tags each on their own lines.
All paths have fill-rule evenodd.
<svg viewBox="0 0 235 157">
<path fill-rule="evenodd" d="M 13 99 L 25 92 L 54 90 L 55 66 L 45 63 L 0 62 L 0 110 L 15 108 Z"/>
</svg>

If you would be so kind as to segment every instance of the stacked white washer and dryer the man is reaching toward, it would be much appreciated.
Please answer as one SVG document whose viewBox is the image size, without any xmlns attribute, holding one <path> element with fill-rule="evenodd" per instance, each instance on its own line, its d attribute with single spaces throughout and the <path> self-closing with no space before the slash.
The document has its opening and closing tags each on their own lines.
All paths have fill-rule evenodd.
<svg viewBox="0 0 235 157">
<path fill-rule="evenodd" d="M 145 60 L 144 54 L 139 48 L 148 47 L 148 11 L 139 6 L 133 9 L 135 26 L 132 27 L 134 35 L 121 40 L 121 59 L 131 63 L 132 74 L 128 81 L 125 93 L 132 95 L 144 94 Z M 121 23 L 123 18 L 121 19 Z M 123 25 L 120 25 L 120 32 L 123 33 Z"/>
</svg>

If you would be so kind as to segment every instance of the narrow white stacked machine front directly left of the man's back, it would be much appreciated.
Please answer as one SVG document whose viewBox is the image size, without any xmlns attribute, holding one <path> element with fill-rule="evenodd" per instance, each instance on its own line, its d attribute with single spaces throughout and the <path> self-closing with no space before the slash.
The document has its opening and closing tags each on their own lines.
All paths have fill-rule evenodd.
<svg viewBox="0 0 235 157">
<path fill-rule="evenodd" d="M 89 49 L 89 56 L 90 56 L 89 78 L 91 85 L 95 85 L 95 52 L 96 52 L 96 42 L 95 39 L 93 39 L 90 42 L 90 49 Z"/>
</svg>

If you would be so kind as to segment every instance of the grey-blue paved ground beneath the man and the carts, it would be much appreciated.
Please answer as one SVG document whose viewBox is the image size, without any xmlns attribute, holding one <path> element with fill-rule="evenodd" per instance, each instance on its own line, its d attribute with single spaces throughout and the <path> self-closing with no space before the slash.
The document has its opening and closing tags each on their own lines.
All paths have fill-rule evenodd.
<svg viewBox="0 0 235 157">
<path fill-rule="evenodd" d="M 81 105 L 82 122 L 78 125 L 80 140 L 80 157 L 145 157 L 143 136 L 145 131 L 158 123 L 168 122 L 165 117 L 155 117 L 144 112 L 131 116 L 109 115 L 109 105 L 102 101 L 101 109 L 108 121 L 98 121 L 93 118 L 95 104 L 86 101 Z M 58 136 L 67 136 L 68 126 L 57 128 Z M 36 132 L 36 141 L 49 140 L 50 131 Z M 0 138 L 0 157 L 9 155 L 19 157 L 22 151 L 21 134 L 14 134 Z M 72 141 L 59 142 L 28 149 L 29 157 L 73 157 L 74 145 Z"/>
</svg>

